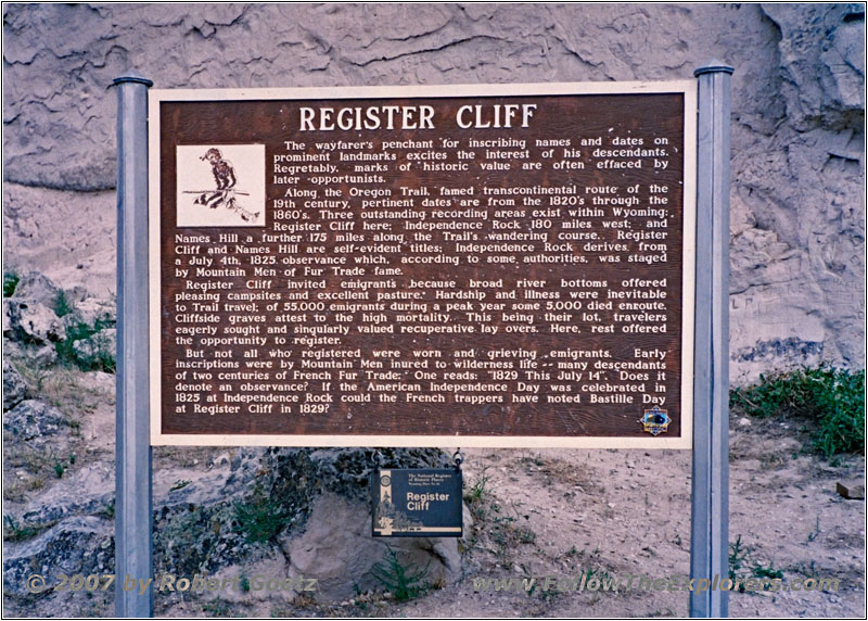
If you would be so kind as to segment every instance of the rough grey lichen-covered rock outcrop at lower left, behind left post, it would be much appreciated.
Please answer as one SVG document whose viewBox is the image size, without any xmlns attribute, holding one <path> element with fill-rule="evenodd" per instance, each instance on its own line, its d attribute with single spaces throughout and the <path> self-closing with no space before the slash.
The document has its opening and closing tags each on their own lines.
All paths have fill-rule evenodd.
<svg viewBox="0 0 868 621">
<path fill-rule="evenodd" d="M 111 443 L 94 442 L 88 418 L 102 408 L 100 402 L 113 401 L 113 377 L 94 369 L 114 368 L 116 330 L 110 301 L 65 291 L 37 273 L 21 276 L 4 302 L 14 309 L 4 331 L 12 359 L 3 362 L 3 466 L 12 482 L 4 494 L 13 500 L 4 509 L 4 587 L 26 608 L 37 595 L 27 591 L 29 573 L 113 571 L 114 452 Z M 44 320 L 26 320 L 36 316 Z M 44 358 L 47 351 L 53 360 Z M 64 405 L 36 398 L 44 388 L 30 390 L 17 367 L 29 368 L 40 383 L 61 371 L 63 382 L 75 378 L 74 385 L 53 389 L 52 397 Z M 88 393 L 94 404 L 80 400 Z M 367 500 L 375 458 L 393 468 L 448 462 L 437 449 L 214 453 L 186 468 L 155 469 L 155 570 L 178 578 L 237 576 L 261 566 L 273 578 L 321 580 L 316 597 L 324 600 L 383 588 L 371 569 L 386 546 L 370 538 Z M 394 547 L 401 562 L 425 568 L 431 582 L 461 575 L 456 540 Z"/>
</svg>

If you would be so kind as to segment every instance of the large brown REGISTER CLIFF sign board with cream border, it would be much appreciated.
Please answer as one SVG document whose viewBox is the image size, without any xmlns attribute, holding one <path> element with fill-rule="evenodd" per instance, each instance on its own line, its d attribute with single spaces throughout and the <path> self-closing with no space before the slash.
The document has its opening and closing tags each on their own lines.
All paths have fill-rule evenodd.
<svg viewBox="0 0 868 621">
<path fill-rule="evenodd" d="M 690 447 L 694 111 L 152 91 L 152 442 Z"/>
</svg>

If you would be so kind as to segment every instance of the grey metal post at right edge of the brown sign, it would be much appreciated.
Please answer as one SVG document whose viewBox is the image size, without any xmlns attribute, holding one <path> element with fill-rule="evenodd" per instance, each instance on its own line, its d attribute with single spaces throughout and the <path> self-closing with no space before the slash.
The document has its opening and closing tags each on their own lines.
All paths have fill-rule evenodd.
<svg viewBox="0 0 868 621">
<path fill-rule="evenodd" d="M 729 552 L 729 113 L 732 67 L 711 62 L 699 80 L 697 302 L 690 617 L 726 617 Z M 715 580 L 715 576 L 719 576 Z"/>
</svg>

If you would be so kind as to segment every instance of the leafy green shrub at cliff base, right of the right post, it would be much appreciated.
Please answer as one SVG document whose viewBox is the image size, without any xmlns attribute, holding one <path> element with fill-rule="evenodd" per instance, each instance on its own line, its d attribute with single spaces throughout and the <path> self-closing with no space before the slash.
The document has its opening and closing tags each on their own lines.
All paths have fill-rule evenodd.
<svg viewBox="0 0 868 621">
<path fill-rule="evenodd" d="M 830 459 L 865 451 L 865 370 L 829 365 L 776 376 L 730 391 L 730 406 L 756 417 L 791 414 L 814 422 L 814 448 Z"/>
</svg>

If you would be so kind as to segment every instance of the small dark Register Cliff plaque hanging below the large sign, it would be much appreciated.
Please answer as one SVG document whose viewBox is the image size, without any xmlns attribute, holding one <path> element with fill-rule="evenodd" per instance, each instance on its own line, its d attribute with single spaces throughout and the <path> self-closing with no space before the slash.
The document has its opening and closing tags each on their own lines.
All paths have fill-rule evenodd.
<svg viewBox="0 0 868 621">
<path fill-rule="evenodd" d="M 375 537 L 460 537 L 461 470 L 374 470 L 371 534 Z"/>
</svg>

